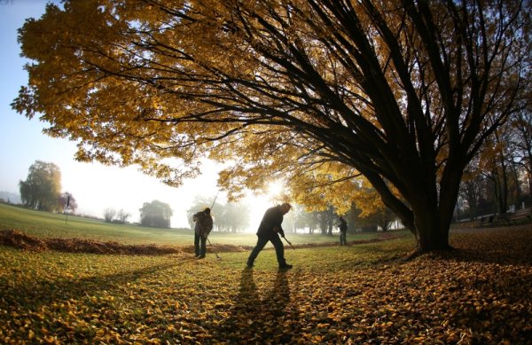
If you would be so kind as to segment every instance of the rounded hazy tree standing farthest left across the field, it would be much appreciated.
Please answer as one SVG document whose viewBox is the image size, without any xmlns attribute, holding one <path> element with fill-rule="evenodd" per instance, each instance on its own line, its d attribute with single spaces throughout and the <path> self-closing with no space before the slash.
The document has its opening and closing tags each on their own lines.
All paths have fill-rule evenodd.
<svg viewBox="0 0 532 345">
<path fill-rule="evenodd" d="M 56 164 L 35 161 L 19 187 L 20 199 L 27 207 L 49 212 L 61 210 L 61 171 Z"/>
</svg>

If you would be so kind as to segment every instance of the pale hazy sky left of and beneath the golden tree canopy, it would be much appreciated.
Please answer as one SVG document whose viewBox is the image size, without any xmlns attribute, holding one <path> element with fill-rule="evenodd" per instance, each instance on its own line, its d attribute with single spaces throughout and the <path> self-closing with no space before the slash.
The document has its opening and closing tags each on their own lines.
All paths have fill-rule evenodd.
<svg viewBox="0 0 532 345">
<path fill-rule="evenodd" d="M 34 118 L 28 120 L 11 108 L 20 86 L 27 84 L 25 61 L 20 58 L 17 29 L 29 18 L 39 18 L 44 12 L 45 0 L 0 1 L 0 191 L 19 193 L 19 181 L 25 180 L 28 168 L 35 161 L 53 162 L 61 170 L 62 192 L 71 192 L 78 203 L 78 213 L 103 217 L 106 208 L 123 208 L 138 222 L 138 209 L 144 202 L 160 200 L 174 210 L 172 227 L 188 227 L 186 210 L 196 195 L 214 200 L 218 189 L 216 174 L 207 163 L 202 176 L 171 188 L 153 177 L 145 176 L 135 167 L 120 169 L 98 163 L 74 161 L 75 143 L 66 139 L 47 137 L 42 129 L 46 123 Z M 224 200 L 223 193 L 217 201 Z M 266 197 L 246 200 L 253 206 L 252 224 L 256 224 L 265 208 Z M 210 206 L 210 205 L 207 205 Z M 215 215 L 215 209 L 213 210 Z"/>
</svg>

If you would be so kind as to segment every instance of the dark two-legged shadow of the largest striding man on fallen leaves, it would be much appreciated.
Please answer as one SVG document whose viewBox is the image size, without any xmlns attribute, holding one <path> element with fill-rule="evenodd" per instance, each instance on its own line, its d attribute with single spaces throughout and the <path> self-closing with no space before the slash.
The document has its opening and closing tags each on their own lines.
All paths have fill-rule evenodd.
<svg viewBox="0 0 532 345">
<path fill-rule="evenodd" d="M 244 270 L 230 316 L 213 330 L 220 341 L 290 342 L 284 331 L 286 308 L 290 302 L 290 286 L 286 272 L 278 271 L 273 285 L 261 294 L 254 282 L 254 271 Z M 285 339 L 287 338 L 287 339 Z"/>
</svg>

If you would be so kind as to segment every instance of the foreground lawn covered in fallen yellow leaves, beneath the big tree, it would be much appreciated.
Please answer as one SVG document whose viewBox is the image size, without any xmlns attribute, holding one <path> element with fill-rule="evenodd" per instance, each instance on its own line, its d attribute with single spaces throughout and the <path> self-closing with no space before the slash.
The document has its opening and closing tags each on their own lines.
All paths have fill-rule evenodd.
<svg viewBox="0 0 532 345">
<path fill-rule="evenodd" d="M 0 342 L 511 343 L 532 339 L 530 225 L 347 247 L 90 255 L 0 247 Z"/>
</svg>

